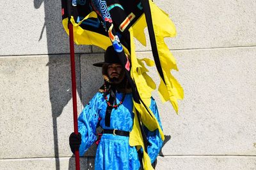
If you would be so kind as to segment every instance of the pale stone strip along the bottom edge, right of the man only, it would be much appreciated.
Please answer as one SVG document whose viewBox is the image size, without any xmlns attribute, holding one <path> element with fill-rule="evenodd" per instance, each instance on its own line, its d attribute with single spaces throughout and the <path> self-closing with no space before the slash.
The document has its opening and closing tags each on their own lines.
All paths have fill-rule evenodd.
<svg viewBox="0 0 256 170">
<path fill-rule="evenodd" d="M 173 156 L 157 157 L 156 170 L 253 170 L 256 157 L 232 156 Z"/>
</svg>

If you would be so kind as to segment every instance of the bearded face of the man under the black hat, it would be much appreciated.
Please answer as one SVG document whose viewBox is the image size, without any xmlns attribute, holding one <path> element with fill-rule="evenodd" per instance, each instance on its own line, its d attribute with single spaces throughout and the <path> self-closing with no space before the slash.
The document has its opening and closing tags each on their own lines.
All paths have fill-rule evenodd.
<svg viewBox="0 0 256 170">
<path fill-rule="evenodd" d="M 121 64 L 109 64 L 108 65 L 108 77 L 112 81 L 120 81 L 123 74 L 123 67 Z"/>
</svg>

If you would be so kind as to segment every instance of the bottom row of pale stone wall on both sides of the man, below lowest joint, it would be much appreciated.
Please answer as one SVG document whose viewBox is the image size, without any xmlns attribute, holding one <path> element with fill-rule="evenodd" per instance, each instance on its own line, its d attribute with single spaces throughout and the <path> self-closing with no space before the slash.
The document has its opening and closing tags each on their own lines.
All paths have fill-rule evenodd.
<svg viewBox="0 0 256 170">
<path fill-rule="evenodd" d="M 56 167 L 54 158 L 45 159 L 0 159 L 0 169 L 75 169 L 74 157 L 60 158 Z M 80 158 L 81 169 L 94 169 L 94 159 Z M 244 156 L 168 156 L 157 157 L 156 170 L 253 170 L 256 168 L 256 157 Z"/>
</svg>

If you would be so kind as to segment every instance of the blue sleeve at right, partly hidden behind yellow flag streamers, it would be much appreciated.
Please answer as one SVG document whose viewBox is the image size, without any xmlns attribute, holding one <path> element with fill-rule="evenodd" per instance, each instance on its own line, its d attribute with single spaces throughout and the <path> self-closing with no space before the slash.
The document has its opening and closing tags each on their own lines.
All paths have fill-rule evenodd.
<svg viewBox="0 0 256 170">
<path fill-rule="evenodd" d="M 154 113 L 155 117 L 157 118 L 157 121 L 159 122 L 161 129 L 163 130 L 159 113 L 157 110 L 157 106 L 156 106 L 156 101 L 154 100 L 153 97 L 151 97 L 151 104 L 149 108 Z M 147 139 L 151 144 L 150 146 L 148 146 L 148 156 L 151 159 L 151 163 L 153 163 L 156 160 L 157 155 L 163 146 L 163 141 L 161 139 L 158 129 L 156 129 L 155 131 L 148 131 L 147 127 L 145 127 L 144 131 L 147 134 Z"/>
</svg>

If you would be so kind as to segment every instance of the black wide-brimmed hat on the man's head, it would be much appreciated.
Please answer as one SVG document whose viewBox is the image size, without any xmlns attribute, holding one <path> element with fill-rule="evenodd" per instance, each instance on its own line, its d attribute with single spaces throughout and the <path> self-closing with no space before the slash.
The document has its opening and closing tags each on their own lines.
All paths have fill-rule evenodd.
<svg viewBox="0 0 256 170">
<path fill-rule="evenodd" d="M 104 54 L 104 62 L 97 62 L 92 65 L 102 67 L 104 64 L 121 64 L 120 59 L 118 55 L 116 55 L 116 51 L 112 45 L 107 48 Z"/>
</svg>

